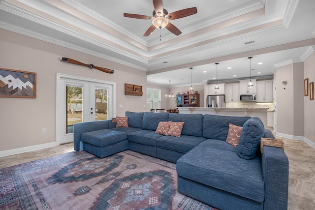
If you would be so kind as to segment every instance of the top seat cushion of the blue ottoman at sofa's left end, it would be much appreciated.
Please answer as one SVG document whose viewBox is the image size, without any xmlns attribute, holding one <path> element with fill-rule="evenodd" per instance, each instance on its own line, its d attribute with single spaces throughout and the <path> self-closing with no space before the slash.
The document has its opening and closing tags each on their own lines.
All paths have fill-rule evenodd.
<svg viewBox="0 0 315 210">
<path fill-rule="evenodd" d="M 97 147 L 106 147 L 128 139 L 125 132 L 102 129 L 82 134 L 81 140 Z"/>
</svg>

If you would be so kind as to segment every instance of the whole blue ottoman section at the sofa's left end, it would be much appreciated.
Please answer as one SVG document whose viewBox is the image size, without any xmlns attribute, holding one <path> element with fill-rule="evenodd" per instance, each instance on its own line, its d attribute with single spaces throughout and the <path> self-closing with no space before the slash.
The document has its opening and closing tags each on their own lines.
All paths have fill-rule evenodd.
<svg viewBox="0 0 315 210">
<path fill-rule="evenodd" d="M 100 158 L 128 150 L 128 135 L 112 129 L 83 133 L 81 141 L 84 150 Z"/>
</svg>

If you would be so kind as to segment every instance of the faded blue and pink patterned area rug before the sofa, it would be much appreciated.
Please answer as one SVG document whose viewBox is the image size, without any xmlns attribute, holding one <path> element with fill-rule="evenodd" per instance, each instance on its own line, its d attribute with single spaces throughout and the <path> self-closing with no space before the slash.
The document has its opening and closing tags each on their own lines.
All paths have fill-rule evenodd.
<svg viewBox="0 0 315 210">
<path fill-rule="evenodd" d="M 126 150 L 0 169 L 0 210 L 217 210 L 177 192 L 176 165 Z"/>
</svg>

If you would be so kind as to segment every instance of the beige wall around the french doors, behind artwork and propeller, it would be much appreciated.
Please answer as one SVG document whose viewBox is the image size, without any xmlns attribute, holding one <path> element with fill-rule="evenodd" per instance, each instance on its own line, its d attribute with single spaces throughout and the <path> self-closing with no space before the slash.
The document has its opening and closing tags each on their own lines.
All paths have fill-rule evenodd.
<svg viewBox="0 0 315 210">
<path fill-rule="evenodd" d="M 146 111 L 146 72 L 108 60 L 0 30 L 0 68 L 37 74 L 37 97 L 0 98 L 0 151 L 56 142 L 56 74 L 62 73 L 116 83 L 116 116 L 125 111 Z M 60 61 L 61 57 L 114 69 L 107 74 L 96 69 Z M 140 98 L 125 97 L 125 83 L 143 86 Z M 122 104 L 123 108 L 119 108 Z M 41 133 L 45 127 L 47 132 Z"/>
</svg>

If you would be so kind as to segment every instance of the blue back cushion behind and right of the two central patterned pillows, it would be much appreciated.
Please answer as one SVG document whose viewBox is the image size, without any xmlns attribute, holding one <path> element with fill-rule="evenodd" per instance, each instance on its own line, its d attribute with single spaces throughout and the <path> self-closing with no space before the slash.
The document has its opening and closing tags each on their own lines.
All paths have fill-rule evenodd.
<svg viewBox="0 0 315 210">
<path fill-rule="evenodd" d="M 202 136 L 202 114 L 171 113 L 168 119 L 172 122 L 185 122 L 182 134 L 188 136 Z"/>
</svg>

